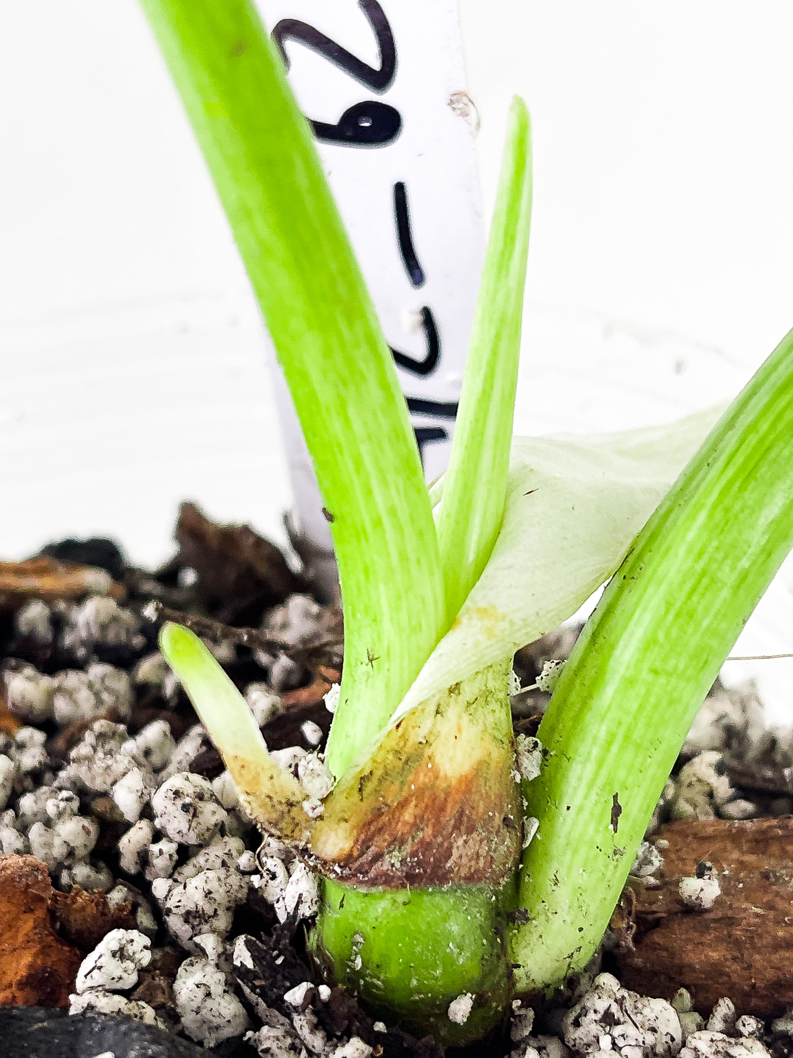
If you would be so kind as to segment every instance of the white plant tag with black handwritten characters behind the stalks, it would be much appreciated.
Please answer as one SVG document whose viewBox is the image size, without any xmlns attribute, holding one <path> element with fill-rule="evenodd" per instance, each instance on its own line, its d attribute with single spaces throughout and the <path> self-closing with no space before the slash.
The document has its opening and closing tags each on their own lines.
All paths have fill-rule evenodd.
<svg viewBox="0 0 793 1058">
<path fill-rule="evenodd" d="M 257 3 L 314 126 L 431 480 L 448 460 L 484 256 L 457 0 Z M 297 530 L 330 549 L 311 460 L 276 377 Z"/>
</svg>

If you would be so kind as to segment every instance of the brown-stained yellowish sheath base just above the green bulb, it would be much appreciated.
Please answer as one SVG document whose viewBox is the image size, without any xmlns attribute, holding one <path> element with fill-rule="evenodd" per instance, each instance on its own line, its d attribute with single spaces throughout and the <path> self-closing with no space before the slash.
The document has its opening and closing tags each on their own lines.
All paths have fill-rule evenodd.
<svg viewBox="0 0 793 1058">
<path fill-rule="evenodd" d="M 311 853 L 367 889 L 501 884 L 521 846 L 506 676 L 499 662 L 408 713 L 325 802 Z"/>
</svg>

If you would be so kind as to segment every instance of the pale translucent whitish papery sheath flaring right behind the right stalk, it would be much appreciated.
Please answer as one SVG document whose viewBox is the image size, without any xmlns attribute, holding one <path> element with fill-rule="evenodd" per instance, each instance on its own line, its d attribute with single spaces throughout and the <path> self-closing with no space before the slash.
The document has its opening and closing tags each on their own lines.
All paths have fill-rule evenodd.
<svg viewBox="0 0 793 1058">
<path fill-rule="evenodd" d="M 515 438 L 490 562 L 391 724 L 574 614 L 614 572 L 721 411 L 600 437 Z M 443 489 L 443 479 L 432 489 L 441 507 Z"/>
</svg>

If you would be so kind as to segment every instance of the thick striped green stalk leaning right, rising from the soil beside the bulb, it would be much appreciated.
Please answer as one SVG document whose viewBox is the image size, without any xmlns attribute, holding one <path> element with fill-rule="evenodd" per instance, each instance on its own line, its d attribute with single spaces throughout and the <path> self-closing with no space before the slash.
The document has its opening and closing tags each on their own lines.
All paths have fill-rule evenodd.
<svg viewBox="0 0 793 1058">
<path fill-rule="evenodd" d="M 520 990 L 558 983 L 595 950 L 690 724 L 791 547 L 793 331 L 631 545 L 540 725 Z"/>
</svg>

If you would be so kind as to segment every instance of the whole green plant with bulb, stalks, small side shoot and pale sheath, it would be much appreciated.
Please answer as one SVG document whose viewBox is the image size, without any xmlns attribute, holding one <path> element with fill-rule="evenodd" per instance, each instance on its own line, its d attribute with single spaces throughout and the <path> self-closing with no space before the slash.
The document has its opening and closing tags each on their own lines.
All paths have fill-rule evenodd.
<svg viewBox="0 0 793 1058">
<path fill-rule="evenodd" d="M 163 653 L 250 814 L 324 879 L 317 972 L 413 1032 L 475 1039 L 514 995 L 560 983 L 595 950 L 688 725 L 793 544 L 793 338 L 720 419 L 511 441 L 532 201 L 516 99 L 449 469 L 428 492 L 253 4 L 142 3 L 333 515 L 345 663 L 321 809 L 200 640 L 166 625 Z M 537 768 L 515 753 L 513 654 L 609 578 Z M 524 925 L 511 926 L 516 908 Z"/>
</svg>

